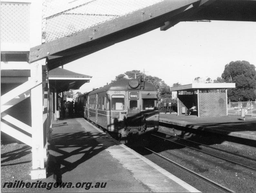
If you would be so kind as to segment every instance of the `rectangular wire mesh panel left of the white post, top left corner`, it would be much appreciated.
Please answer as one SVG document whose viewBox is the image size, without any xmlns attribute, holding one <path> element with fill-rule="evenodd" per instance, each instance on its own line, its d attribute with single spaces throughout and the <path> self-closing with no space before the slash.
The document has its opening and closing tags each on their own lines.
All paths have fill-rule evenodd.
<svg viewBox="0 0 256 193">
<path fill-rule="evenodd" d="M 30 4 L 1 3 L 1 43 L 29 43 Z"/>
</svg>

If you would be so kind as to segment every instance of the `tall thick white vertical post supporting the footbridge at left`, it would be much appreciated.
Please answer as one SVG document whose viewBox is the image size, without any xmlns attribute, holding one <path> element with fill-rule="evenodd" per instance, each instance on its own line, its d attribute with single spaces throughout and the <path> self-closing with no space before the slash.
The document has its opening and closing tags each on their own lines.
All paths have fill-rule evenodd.
<svg viewBox="0 0 256 193">
<path fill-rule="evenodd" d="M 42 44 L 42 15 L 43 0 L 32 0 L 30 5 L 30 48 Z M 47 92 L 46 59 L 31 63 L 31 79 L 39 83 L 31 89 L 31 120 L 32 120 L 32 170 L 31 179 L 46 178 L 47 148 L 47 109 L 48 99 L 44 98 Z"/>
</svg>

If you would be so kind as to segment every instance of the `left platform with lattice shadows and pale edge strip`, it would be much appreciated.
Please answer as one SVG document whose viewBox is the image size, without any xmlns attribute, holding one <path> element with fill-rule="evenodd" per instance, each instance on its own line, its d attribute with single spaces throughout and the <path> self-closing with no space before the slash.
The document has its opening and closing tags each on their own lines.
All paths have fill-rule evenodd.
<svg viewBox="0 0 256 193">
<path fill-rule="evenodd" d="M 91 186 L 87 192 L 200 192 L 84 118 L 53 121 L 52 128 L 49 171 L 57 182 L 107 183 L 105 188 Z"/>
</svg>

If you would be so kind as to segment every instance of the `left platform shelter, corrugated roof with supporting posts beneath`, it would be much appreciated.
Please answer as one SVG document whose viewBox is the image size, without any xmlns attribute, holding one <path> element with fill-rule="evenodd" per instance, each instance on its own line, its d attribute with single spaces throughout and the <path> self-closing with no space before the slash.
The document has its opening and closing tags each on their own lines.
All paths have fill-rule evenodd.
<svg viewBox="0 0 256 193">
<path fill-rule="evenodd" d="M 90 82 L 92 76 L 79 74 L 63 68 L 55 68 L 49 71 L 50 85 L 50 116 L 53 120 L 59 118 L 60 107 L 63 103 L 63 92 L 79 89 L 82 85 Z"/>
</svg>

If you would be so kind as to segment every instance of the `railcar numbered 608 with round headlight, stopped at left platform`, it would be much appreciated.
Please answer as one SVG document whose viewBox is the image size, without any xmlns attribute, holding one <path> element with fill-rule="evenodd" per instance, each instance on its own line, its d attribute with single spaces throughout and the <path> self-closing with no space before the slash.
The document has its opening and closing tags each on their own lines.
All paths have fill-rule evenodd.
<svg viewBox="0 0 256 193">
<path fill-rule="evenodd" d="M 85 119 L 119 138 L 158 130 L 157 88 L 142 78 L 111 83 L 76 100 Z"/>
</svg>

